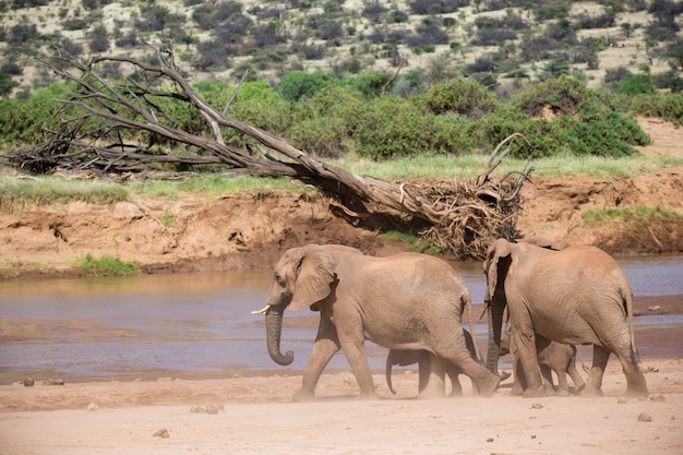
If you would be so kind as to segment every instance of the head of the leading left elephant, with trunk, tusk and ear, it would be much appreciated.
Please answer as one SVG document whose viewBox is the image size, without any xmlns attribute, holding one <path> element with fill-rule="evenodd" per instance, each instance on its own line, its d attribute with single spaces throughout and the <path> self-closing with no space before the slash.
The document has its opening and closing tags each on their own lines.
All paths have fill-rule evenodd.
<svg viewBox="0 0 683 455">
<path fill-rule="evenodd" d="M 315 303 L 329 296 L 334 288 L 336 265 L 335 259 L 316 244 L 289 249 L 275 265 L 266 306 L 254 313 L 265 313 L 268 354 L 276 363 L 287 366 L 293 361 L 292 351 L 280 351 L 285 308 L 312 307 L 315 310 Z"/>
</svg>

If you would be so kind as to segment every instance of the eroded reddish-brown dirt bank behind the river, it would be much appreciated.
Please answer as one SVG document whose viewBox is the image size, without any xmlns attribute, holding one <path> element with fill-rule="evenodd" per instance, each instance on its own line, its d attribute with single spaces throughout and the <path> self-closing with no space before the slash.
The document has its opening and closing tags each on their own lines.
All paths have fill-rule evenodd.
<svg viewBox="0 0 683 455">
<path fill-rule="evenodd" d="M 654 141 L 643 148 L 646 155 L 683 156 L 683 129 L 638 121 Z M 683 252 L 680 220 L 599 228 L 582 220 L 586 211 L 604 207 L 644 205 L 683 214 L 683 166 L 618 180 L 532 175 L 523 196 L 522 236 L 543 236 L 562 247 L 595 244 L 612 254 Z M 312 242 L 350 244 L 369 254 L 396 251 L 376 235 L 376 225 L 356 227 L 335 213 L 324 196 L 290 192 L 5 209 L 0 211 L 0 279 L 77 276 L 74 264 L 87 253 L 158 273 L 271 266 L 287 248 Z"/>
</svg>

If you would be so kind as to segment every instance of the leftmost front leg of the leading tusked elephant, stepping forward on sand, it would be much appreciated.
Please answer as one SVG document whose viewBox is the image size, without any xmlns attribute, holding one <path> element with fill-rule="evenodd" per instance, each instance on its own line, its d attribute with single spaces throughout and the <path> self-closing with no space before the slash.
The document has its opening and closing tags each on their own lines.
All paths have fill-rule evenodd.
<svg viewBox="0 0 683 455">
<path fill-rule="evenodd" d="M 334 356 L 339 350 L 337 331 L 332 322 L 321 319 L 317 327 L 317 337 L 311 350 L 311 357 L 303 371 L 301 390 L 295 395 L 295 402 L 312 399 L 320 375 Z"/>
</svg>

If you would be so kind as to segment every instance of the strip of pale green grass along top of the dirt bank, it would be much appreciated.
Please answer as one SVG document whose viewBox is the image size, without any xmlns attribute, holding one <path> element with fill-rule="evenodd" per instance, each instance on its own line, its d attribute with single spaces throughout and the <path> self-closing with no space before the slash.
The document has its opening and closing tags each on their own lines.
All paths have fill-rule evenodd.
<svg viewBox="0 0 683 455">
<path fill-rule="evenodd" d="M 424 179 L 447 180 L 472 178 L 486 168 L 489 156 L 484 154 L 463 156 L 421 156 L 373 161 L 367 158 L 346 157 L 331 160 L 331 164 L 352 173 L 376 177 L 387 181 Z M 631 156 L 626 158 L 604 158 L 596 156 L 553 156 L 534 161 L 506 158 L 495 175 L 524 169 L 531 164 L 536 169 L 531 176 L 588 175 L 616 179 L 634 176 L 639 171 L 651 171 L 659 167 L 682 166 L 683 157 Z M 14 211 L 26 203 L 49 205 L 69 201 L 111 204 L 132 201 L 135 195 L 168 197 L 178 200 L 183 195 L 196 194 L 219 197 L 240 192 L 254 194 L 264 191 L 314 192 L 310 187 L 287 178 L 264 178 L 254 176 L 209 175 L 185 181 L 136 181 L 117 183 L 101 180 L 63 180 L 58 177 L 41 176 L 26 178 L 0 173 L 0 208 Z M 173 219 L 164 218 L 165 226 Z"/>
</svg>

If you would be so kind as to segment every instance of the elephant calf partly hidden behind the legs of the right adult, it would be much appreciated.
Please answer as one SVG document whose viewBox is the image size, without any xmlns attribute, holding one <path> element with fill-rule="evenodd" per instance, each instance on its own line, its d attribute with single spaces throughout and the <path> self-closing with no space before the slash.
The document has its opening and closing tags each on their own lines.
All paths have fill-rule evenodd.
<svg viewBox="0 0 683 455">
<path fill-rule="evenodd" d="M 505 335 L 501 338 L 501 356 L 513 354 L 513 395 L 522 395 L 527 388 L 527 381 L 519 362 L 517 348 L 512 339 L 511 325 L 507 324 Z M 586 382 L 576 370 L 576 346 L 551 342 L 539 335 L 536 338 L 536 352 L 538 364 L 543 378 L 543 386 L 549 394 L 558 393 L 560 396 L 570 395 L 570 384 L 566 380 L 568 374 L 574 382 L 574 393 L 580 393 L 586 386 Z M 555 390 L 552 372 L 558 375 L 558 390 Z"/>
</svg>

